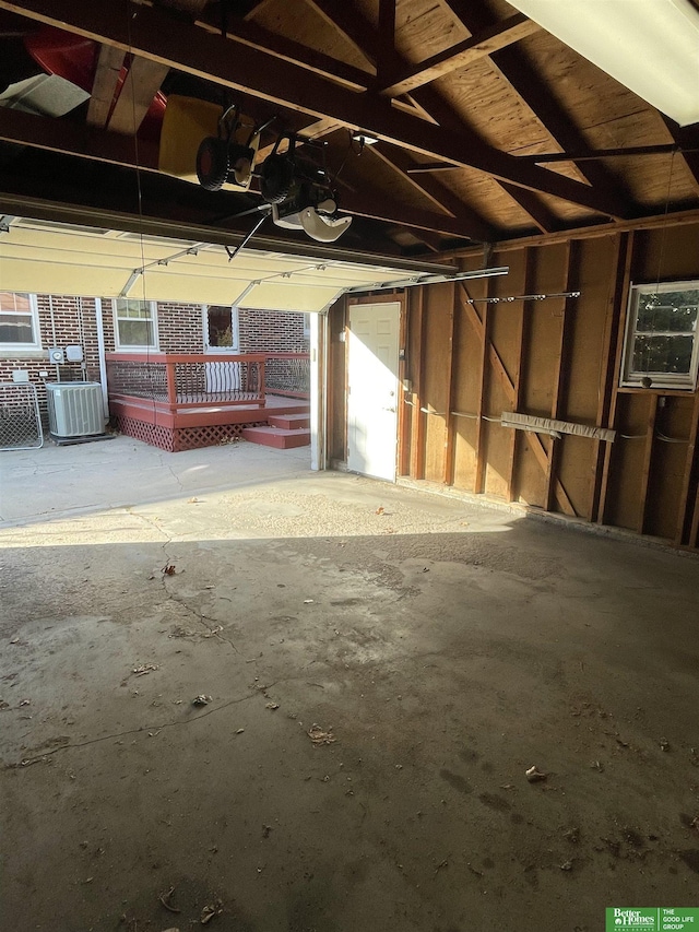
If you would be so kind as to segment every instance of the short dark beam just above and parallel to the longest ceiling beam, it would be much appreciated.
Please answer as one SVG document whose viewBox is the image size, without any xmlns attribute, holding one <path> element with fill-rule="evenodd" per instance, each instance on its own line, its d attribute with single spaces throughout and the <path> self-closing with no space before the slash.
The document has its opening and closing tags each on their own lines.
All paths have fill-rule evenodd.
<svg viewBox="0 0 699 932">
<path fill-rule="evenodd" d="M 208 32 L 221 35 L 221 24 L 211 13 L 200 16 L 197 20 L 197 25 Z M 226 37 L 233 42 L 242 43 L 275 58 L 299 64 L 321 78 L 336 81 L 354 91 L 366 91 L 370 80 L 374 80 L 369 72 L 353 68 L 351 64 L 337 61 L 322 51 L 280 36 L 252 21 L 229 19 L 226 22 L 225 33 Z"/>
</svg>

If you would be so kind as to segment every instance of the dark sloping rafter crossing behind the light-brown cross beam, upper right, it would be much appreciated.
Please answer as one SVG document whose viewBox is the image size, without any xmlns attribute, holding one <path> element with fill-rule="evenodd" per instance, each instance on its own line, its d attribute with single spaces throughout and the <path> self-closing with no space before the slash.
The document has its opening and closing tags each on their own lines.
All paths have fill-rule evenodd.
<svg viewBox="0 0 699 932">
<path fill-rule="evenodd" d="M 493 16 L 482 4 L 474 4 L 471 0 L 445 2 L 472 35 L 493 24 Z M 490 62 L 564 151 L 574 152 L 589 148 L 582 131 L 556 101 L 522 49 L 512 46 L 503 48 L 490 57 Z M 590 163 L 578 170 L 603 198 L 613 198 L 615 202 L 623 203 L 620 214 L 630 216 L 636 212 L 636 205 L 631 203 L 621 182 L 604 165 Z"/>
</svg>

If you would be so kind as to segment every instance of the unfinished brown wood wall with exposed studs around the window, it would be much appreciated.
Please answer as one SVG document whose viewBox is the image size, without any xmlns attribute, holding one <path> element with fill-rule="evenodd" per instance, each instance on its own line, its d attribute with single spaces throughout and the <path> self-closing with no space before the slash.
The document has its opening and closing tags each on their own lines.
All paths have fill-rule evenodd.
<svg viewBox="0 0 699 932">
<path fill-rule="evenodd" d="M 399 474 L 698 547 L 699 393 L 619 389 L 618 374 L 630 283 L 699 279 L 699 222 L 512 245 L 491 263 L 509 274 L 406 291 Z M 469 303 L 566 291 L 581 295 Z M 331 314 L 335 461 L 345 459 L 345 312 Z M 502 427 L 505 411 L 619 434 L 554 439 Z"/>
</svg>

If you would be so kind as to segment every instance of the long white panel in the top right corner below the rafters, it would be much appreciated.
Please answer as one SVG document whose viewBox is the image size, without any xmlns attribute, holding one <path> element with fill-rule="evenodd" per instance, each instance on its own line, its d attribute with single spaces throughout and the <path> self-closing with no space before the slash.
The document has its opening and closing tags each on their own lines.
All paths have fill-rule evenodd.
<svg viewBox="0 0 699 932">
<path fill-rule="evenodd" d="M 508 0 L 679 126 L 699 121 L 699 10 L 690 0 Z"/>
</svg>

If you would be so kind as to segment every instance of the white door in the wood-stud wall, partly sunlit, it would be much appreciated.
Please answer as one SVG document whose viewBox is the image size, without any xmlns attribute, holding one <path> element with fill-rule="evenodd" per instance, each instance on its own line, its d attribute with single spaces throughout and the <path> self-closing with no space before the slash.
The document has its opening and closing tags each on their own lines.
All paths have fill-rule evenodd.
<svg viewBox="0 0 699 932">
<path fill-rule="evenodd" d="M 347 469 L 395 481 L 399 303 L 350 308 Z"/>
</svg>

